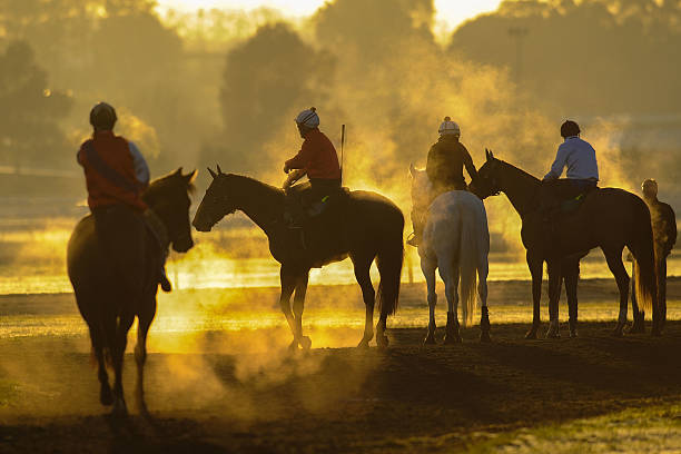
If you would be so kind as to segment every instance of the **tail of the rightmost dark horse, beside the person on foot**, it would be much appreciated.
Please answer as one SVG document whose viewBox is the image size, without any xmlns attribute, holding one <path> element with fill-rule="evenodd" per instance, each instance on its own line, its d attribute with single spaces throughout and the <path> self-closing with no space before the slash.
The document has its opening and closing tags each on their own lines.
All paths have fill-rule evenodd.
<svg viewBox="0 0 681 454">
<path fill-rule="evenodd" d="M 650 210 L 641 199 L 636 200 L 634 213 L 634 237 L 626 245 L 633 254 L 636 299 L 645 310 L 652 308 L 653 322 L 658 319 L 658 285 L 655 251 Z"/>
</svg>

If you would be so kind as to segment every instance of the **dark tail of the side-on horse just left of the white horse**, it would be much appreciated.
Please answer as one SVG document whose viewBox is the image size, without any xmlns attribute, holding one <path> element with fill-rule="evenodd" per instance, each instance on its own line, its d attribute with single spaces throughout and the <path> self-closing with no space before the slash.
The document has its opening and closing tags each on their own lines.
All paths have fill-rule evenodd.
<svg viewBox="0 0 681 454">
<path fill-rule="evenodd" d="M 399 280 L 404 261 L 404 216 L 397 213 L 399 221 L 387 224 L 391 231 L 381 239 L 376 256 L 376 266 L 381 275 L 376 304 L 382 316 L 395 314 L 399 299 Z"/>
</svg>

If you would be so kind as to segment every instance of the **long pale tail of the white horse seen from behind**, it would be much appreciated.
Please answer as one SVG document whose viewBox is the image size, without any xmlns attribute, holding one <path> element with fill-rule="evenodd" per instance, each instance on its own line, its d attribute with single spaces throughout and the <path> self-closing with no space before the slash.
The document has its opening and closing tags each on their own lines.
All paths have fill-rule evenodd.
<svg viewBox="0 0 681 454">
<path fill-rule="evenodd" d="M 480 256 L 485 254 L 485 248 L 488 248 L 488 239 L 486 239 L 488 230 L 486 216 L 481 217 L 477 209 L 466 209 L 464 213 L 465 215 L 460 220 L 458 269 L 461 282 L 458 294 L 461 295 L 463 326 L 467 326 L 473 324 L 475 315 Z M 487 246 L 485 246 L 485 240 Z"/>
</svg>

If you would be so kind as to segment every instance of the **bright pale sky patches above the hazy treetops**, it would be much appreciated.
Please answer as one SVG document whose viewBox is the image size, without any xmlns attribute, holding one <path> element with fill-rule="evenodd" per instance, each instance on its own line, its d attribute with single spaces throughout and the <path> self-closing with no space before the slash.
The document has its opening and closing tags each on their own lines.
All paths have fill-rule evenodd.
<svg viewBox="0 0 681 454">
<path fill-rule="evenodd" d="M 285 16 L 309 16 L 325 0 L 158 0 L 161 11 L 167 8 L 182 10 L 193 9 L 255 9 L 258 7 L 270 7 L 282 10 Z M 437 9 L 437 21 L 447 23 L 453 29 L 466 19 L 473 18 L 481 12 L 493 11 L 501 0 L 435 0 Z"/>
</svg>

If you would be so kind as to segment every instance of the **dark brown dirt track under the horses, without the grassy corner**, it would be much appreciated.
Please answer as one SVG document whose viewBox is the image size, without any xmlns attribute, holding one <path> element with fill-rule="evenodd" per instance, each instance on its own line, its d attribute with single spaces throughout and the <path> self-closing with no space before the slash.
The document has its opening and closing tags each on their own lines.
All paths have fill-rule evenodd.
<svg viewBox="0 0 681 454">
<path fill-rule="evenodd" d="M 150 418 L 135 411 L 127 355 L 126 421 L 98 406 L 88 355 L 71 340 L 4 340 L 2 361 L 32 364 L 23 372 L 34 379 L 0 378 L 0 452 L 457 452 L 481 436 L 679 403 L 681 322 L 660 338 L 613 338 L 610 327 L 586 323 L 576 339 L 524 340 L 526 324 L 496 325 L 488 345 L 473 327 L 461 345 L 432 347 L 421 346 L 423 329 L 392 329 L 387 351 L 265 361 L 151 354 Z"/>
</svg>

